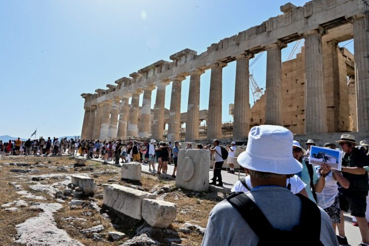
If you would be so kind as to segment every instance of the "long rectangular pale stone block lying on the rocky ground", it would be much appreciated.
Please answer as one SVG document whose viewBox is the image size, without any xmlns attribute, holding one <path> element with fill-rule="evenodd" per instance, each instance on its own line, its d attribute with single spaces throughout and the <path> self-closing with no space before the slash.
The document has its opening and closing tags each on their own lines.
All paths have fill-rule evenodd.
<svg viewBox="0 0 369 246">
<path fill-rule="evenodd" d="M 118 184 L 103 184 L 103 204 L 135 219 L 142 219 L 142 200 L 156 199 L 149 192 L 132 189 Z"/>
</svg>

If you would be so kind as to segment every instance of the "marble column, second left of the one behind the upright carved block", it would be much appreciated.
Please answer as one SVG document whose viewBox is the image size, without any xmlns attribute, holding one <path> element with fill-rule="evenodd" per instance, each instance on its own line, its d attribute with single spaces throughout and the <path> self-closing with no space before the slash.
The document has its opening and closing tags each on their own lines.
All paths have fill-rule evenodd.
<svg viewBox="0 0 369 246">
<path fill-rule="evenodd" d="M 156 141 L 163 140 L 164 132 L 164 106 L 165 106 L 165 87 L 169 81 L 163 80 L 156 84 L 156 99 L 154 105 L 154 126 L 153 139 Z"/>
</svg>

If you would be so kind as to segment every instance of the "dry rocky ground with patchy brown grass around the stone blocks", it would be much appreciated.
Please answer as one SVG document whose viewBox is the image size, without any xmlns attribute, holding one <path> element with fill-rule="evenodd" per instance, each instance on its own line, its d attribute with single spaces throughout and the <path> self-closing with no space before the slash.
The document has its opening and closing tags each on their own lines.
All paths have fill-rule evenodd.
<svg viewBox="0 0 369 246">
<path fill-rule="evenodd" d="M 88 161 L 76 167 L 64 157 L 1 156 L 0 242 L 7 245 L 200 245 L 209 212 L 225 195 L 180 189 L 175 181 L 143 174 L 141 182 L 121 180 L 120 168 Z M 74 198 L 70 175 L 96 182 L 94 196 Z M 152 228 L 102 204 L 103 183 L 155 193 L 177 204 L 168 229 Z"/>
</svg>

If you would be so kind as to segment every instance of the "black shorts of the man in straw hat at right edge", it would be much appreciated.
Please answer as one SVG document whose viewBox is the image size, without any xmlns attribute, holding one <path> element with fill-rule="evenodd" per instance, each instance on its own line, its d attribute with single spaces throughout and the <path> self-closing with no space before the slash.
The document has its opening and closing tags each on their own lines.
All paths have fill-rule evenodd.
<svg viewBox="0 0 369 246">
<path fill-rule="evenodd" d="M 367 211 L 367 195 L 368 192 L 360 192 L 355 196 L 345 196 L 338 192 L 339 207 L 342 211 L 351 210 L 351 215 L 356 217 L 365 217 Z"/>
</svg>

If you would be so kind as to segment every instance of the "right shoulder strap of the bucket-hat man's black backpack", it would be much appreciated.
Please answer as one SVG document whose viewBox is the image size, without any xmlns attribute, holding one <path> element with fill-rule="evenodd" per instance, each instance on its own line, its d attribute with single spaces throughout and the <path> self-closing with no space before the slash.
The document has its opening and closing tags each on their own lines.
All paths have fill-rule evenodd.
<svg viewBox="0 0 369 246">
<path fill-rule="evenodd" d="M 320 242 L 321 214 L 318 206 L 302 194 L 296 194 L 296 196 L 301 200 L 301 230 L 309 232 L 311 242 Z"/>
</svg>

